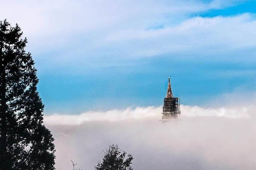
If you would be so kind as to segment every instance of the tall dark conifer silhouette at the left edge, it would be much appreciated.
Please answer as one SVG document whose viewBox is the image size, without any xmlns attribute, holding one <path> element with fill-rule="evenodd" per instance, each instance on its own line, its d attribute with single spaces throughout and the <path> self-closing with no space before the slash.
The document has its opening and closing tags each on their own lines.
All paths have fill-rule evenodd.
<svg viewBox="0 0 256 170">
<path fill-rule="evenodd" d="M 53 170 L 54 138 L 42 124 L 44 105 L 27 39 L 0 21 L 0 170 Z"/>
</svg>

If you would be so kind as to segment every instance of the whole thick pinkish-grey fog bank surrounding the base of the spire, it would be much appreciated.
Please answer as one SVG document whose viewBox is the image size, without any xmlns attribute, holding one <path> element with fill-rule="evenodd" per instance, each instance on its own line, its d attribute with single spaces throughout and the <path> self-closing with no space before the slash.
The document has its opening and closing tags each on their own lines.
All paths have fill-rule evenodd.
<svg viewBox="0 0 256 170">
<path fill-rule="evenodd" d="M 182 106 L 181 121 L 162 123 L 162 107 L 50 115 L 57 170 L 92 170 L 111 144 L 134 156 L 134 170 L 255 169 L 256 106 Z"/>
</svg>

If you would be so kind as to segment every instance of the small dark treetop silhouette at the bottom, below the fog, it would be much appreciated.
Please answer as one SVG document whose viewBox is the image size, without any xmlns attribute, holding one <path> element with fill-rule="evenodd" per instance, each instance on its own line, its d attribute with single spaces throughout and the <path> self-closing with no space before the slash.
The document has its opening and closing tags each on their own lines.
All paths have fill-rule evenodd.
<svg viewBox="0 0 256 170">
<path fill-rule="evenodd" d="M 133 170 L 130 166 L 133 157 L 131 154 L 127 155 L 126 152 L 119 149 L 118 145 L 110 145 L 103 156 L 102 162 L 98 162 L 95 170 Z"/>
</svg>

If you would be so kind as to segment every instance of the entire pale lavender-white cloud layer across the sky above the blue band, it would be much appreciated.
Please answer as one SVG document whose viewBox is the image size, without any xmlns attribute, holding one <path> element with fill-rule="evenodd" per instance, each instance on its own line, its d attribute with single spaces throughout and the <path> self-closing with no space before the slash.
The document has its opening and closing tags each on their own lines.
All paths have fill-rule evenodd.
<svg viewBox="0 0 256 170">
<path fill-rule="evenodd" d="M 212 45 L 213 49 L 218 48 L 214 46 L 216 44 L 254 47 L 255 42 L 252 39 L 255 37 L 255 22 L 246 21 L 249 15 L 213 19 L 188 17 L 195 12 L 226 8 L 240 2 L 10 0 L 1 4 L 0 16 L 2 19 L 7 18 L 12 24 L 19 23 L 24 35 L 28 37 L 31 52 L 39 55 L 45 53 L 45 49 L 59 51 L 58 55 L 62 56 L 62 60 L 68 58 L 69 62 L 74 55 L 65 57 L 67 53 L 76 56 L 86 53 L 86 57 L 102 57 L 106 55 L 102 48 L 106 47 L 120 52 L 113 54 L 108 51 L 107 54 L 113 57 L 184 52 L 209 47 L 209 42 L 215 43 Z M 163 24 L 164 29 L 146 31 L 150 25 L 156 24 Z M 244 32 L 241 34 L 240 30 Z M 239 36 L 237 33 L 240 33 Z M 145 38 L 146 43 L 143 41 Z M 122 46 L 118 47 L 117 44 L 111 44 L 104 39 L 121 40 L 117 43 Z M 126 39 L 141 41 L 126 42 Z M 238 43 L 240 41 L 244 43 Z M 63 49 L 65 50 L 62 51 Z M 59 62 L 53 56 L 49 59 Z"/>
</svg>

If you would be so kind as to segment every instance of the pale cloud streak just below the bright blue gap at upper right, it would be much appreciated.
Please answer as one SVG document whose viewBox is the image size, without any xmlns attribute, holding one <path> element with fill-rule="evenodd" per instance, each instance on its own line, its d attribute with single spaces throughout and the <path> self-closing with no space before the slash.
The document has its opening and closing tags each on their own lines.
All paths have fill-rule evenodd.
<svg viewBox="0 0 256 170">
<path fill-rule="evenodd" d="M 106 41 L 113 44 L 122 42 L 130 47 L 125 53 L 135 57 L 171 53 L 220 55 L 255 48 L 254 29 L 256 20 L 251 14 L 214 18 L 194 17 L 179 25 L 163 29 L 122 30 L 108 35 Z"/>
</svg>

